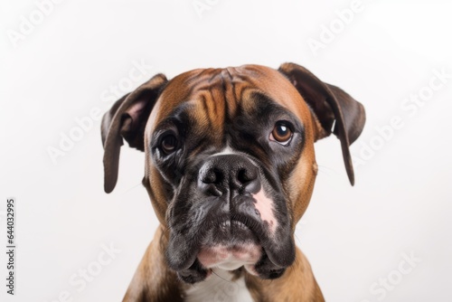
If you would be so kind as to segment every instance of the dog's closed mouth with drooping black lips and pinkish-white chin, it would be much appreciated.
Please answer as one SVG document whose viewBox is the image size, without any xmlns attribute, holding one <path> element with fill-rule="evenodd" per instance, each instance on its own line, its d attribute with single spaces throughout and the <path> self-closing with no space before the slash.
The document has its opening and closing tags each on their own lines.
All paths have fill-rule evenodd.
<svg viewBox="0 0 452 302">
<path fill-rule="evenodd" d="M 259 278 L 280 277 L 295 258 L 293 241 L 287 241 L 290 236 L 284 236 L 286 240 L 281 238 L 275 244 L 265 235 L 261 223 L 253 222 L 249 217 L 240 218 L 206 223 L 211 227 L 199 228 L 195 238 L 184 241 L 187 248 L 183 249 L 184 254 L 181 250 L 174 250 L 174 243 L 183 243 L 182 238 L 170 240 L 166 256 L 179 278 L 187 283 L 196 283 L 207 278 L 213 268 L 235 270 L 242 267 Z M 279 252 L 280 248 L 287 250 L 289 256 L 287 252 Z M 174 267 L 174 264 L 178 266 Z"/>
</svg>

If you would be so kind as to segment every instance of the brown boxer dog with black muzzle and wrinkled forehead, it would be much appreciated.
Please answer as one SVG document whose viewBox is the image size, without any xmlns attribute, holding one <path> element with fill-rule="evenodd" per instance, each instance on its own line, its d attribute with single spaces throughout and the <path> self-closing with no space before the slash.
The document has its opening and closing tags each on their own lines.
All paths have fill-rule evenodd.
<svg viewBox="0 0 452 302">
<path fill-rule="evenodd" d="M 314 143 L 350 144 L 363 105 L 285 63 L 157 74 L 102 119 L 105 191 L 120 146 L 144 151 L 160 225 L 124 301 L 324 301 L 294 232 L 313 192 Z"/>
</svg>

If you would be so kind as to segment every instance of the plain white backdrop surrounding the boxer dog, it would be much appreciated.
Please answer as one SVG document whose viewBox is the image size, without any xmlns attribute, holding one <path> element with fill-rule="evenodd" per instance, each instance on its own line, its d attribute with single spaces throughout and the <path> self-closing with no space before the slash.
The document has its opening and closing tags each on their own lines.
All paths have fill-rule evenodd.
<svg viewBox="0 0 452 302">
<path fill-rule="evenodd" d="M 2 301 L 58 301 L 64 292 L 72 301 L 122 299 L 157 226 L 140 184 L 144 155 L 122 148 L 117 188 L 106 194 L 99 120 L 56 164 L 48 148 L 78 127 L 75 118 L 109 109 L 110 86 L 124 87 L 140 61 L 153 67 L 133 88 L 157 72 L 172 78 L 199 67 L 294 61 L 351 93 L 367 111 L 352 153 L 366 159 L 352 187 L 339 141 L 316 144 L 320 172 L 297 244 L 328 301 L 451 301 L 450 1 L 363 0 L 363 11 L 316 55 L 307 42 L 321 42 L 323 26 L 352 1 L 205 1 L 201 16 L 192 0 L 62 1 L 14 47 L 8 33 L 37 6 L 2 0 L 2 245 L 7 197 L 18 212 L 16 295 L 5 294 L 2 251 Z M 416 112 L 402 109 L 410 95 L 428 92 L 435 71 L 448 74 L 443 87 L 429 90 Z M 394 116 L 403 127 L 378 138 L 376 128 Z M 96 267 L 102 244 L 121 252 L 85 288 L 72 285 L 79 269 Z M 408 274 L 399 269 L 404 254 L 418 259 L 404 264 Z M 383 278 L 392 280 L 387 289 Z"/>
</svg>

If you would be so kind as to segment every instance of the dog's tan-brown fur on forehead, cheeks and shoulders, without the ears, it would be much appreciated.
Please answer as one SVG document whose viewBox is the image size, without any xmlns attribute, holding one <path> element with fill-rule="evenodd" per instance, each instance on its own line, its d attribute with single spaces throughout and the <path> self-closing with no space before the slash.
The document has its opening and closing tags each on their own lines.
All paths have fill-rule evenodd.
<svg viewBox="0 0 452 302">
<path fill-rule="evenodd" d="M 231 116 L 234 115 L 235 109 L 237 109 L 237 102 L 240 99 L 243 101 L 241 106 L 244 109 L 252 109 L 254 104 L 252 99 L 247 96 L 247 93 L 250 92 L 251 88 L 259 89 L 259 87 L 262 87 L 272 99 L 280 100 L 280 105 L 290 109 L 297 114 L 300 120 L 305 122 L 306 148 L 301 156 L 303 160 L 298 161 L 296 171 L 290 178 L 286 188 L 292 197 L 290 208 L 292 208 L 293 222 L 297 222 L 306 211 L 314 188 L 316 175 L 316 170 L 313 168 L 315 165 L 314 141 L 318 136 L 317 132 L 320 130 L 317 124 L 311 122 L 311 114 L 305 101 L 290 82 L 280 76 L 278 71 L 269 68 L 262 70 L 260 66 L 252 67 L 251 71 L 250 77 L 233 80 L 231 85 L 229 81 L 226 81 L 226 87 L 222 84 L 222 78 L 227 77 L 230 80 L 230 77 L 235 74 L 235 70 L 232 68 L 222 71 L 189 71 L 174 78 L 155 104 L 146 127 L 145 137 L 150 137 L 149 134 L 152 132 L 153 127 L 186 99 L 204 99 L 202 102 L 196 102 L 193 112 L 195 115 L 193 118 L 197 121 L 200 131 L 207 129 L 212 133 L 222 133 L 222 127 L 224 127 L 222 117 L 224 117 L 224 111 L 226 110 L 224 104 L 227 102 L 227 109 Z M 265 77 L 260 76 L 262 72 L 266 73 Z M 268 79 L 268 73 L 274 73 L 275 76 Z M 192 82 L 193 84 L 191 86 L 184 85 L 186 82 Z M 184 87 L 186 88 L 185 90 L 182 89 Z M 226 90 L 225 93 L 223 90 Z M 215 101 L 212 101 L 212 99 L 215 99 Z M 145 147 L 147 148 L 147 146 L 149 144 L 146 141 Z M 146 154 L 148 152 L 149 150 L 146 149 Z M 299 175 L 304 175 L 302 179 L 307 181 L 300 181 Z M 146 176 L 143 183 L 150 194 L 159 221 L 165 225 L 167 203 L 163 192 L 163 180 L 149 160 L 149 156 L 146 156 Z M 294 230 L 295 224 L 293 223 Z M 161 236 L 163 228 L 164 226 L 161 226 L 158 229 L 155 233 L 154 241 L 151 242 L 146 250 L 137 273 L 127 290 L 125 301 L 139 301 L 139 299 L 134 300 L 134 298 L 143 295 L 140 292 L 144 291 L 146 291 L 147 301 L 157 301 L 154 298 L 157 297 L 155 291 L 158 291 L 158 295 L 163 295 L 163 297 L 167 297 L 166 295 L 170 291 L 180 294 L 183 286 L 178 284 L 174 272 L 167 269 L 164 263 L 164 250 L 167 240 L 160 241 L 160 244 L 156 243 L 159 242 L 158 237 Z M 281 278 L 276 280 L 262 280 L 251 276 L 245 271 L 242 271 L 242 273 L 246 278 L 252 297 L 256 301 L 291 301 L 293 297 L 300 297 L 297 301 L 324 301 L 322 292 L 315 282 L 311 267 L 300 250 L 297 250 L 295 263 L 287 269 L 287 272 Z M 169 287 L 174 288 L 170 289 Z M 176 300 L 170 299 L 167 301 Z"/>
</svg>

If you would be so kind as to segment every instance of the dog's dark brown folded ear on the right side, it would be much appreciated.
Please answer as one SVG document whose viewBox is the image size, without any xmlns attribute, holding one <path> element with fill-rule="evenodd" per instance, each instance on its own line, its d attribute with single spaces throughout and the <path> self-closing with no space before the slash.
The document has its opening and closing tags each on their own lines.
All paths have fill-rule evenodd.
<svg viewBox="0 0 452 302">
<path fill-rule="evenodd" d="M 319 80 L 303 66 L 285 63 L 278 71 L 287 76 L 320 122 L 322 129 L 317 131 L 315 139 L 334 133 L 341 141 L 345 169 L 353 185 L 352 156 L 348 146 L 352 145 L 363 131 L 365 123 L 363 105 L 344 90 Z"/>
</svg>

